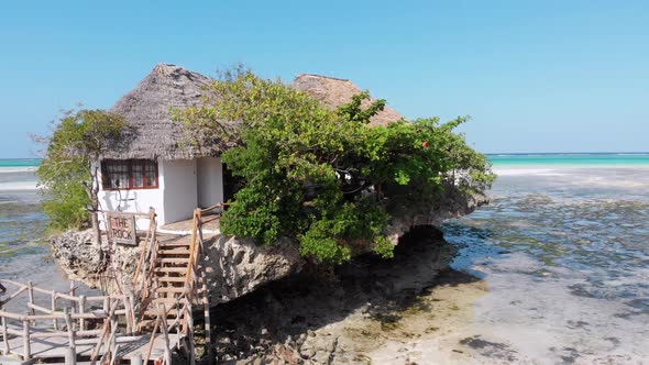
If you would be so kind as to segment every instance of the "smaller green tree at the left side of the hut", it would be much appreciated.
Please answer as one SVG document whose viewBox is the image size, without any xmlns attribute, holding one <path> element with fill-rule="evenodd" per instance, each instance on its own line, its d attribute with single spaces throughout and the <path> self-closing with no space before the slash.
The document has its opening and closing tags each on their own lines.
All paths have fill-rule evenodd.
<svg viewBox="0 0 649 365">
<path fill-rule="evenodd" d="M 68 110 L 54 122 L 38 169 L 43 208 L 54 229 L 79 229 L 89 222 L 88 209 L 97 210 L 97 161 L 103 148 L 125 128 L 120 115 L 102 110 Z"/>
</svg>

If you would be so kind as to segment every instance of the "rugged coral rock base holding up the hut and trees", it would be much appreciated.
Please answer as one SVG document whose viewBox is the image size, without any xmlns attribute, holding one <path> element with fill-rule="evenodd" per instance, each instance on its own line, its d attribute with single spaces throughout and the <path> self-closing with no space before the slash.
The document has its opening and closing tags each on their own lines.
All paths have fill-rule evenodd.
<svg viewBox="0 0 649 365">
<path fill-rule="evenodd" d="M 396 214 L 388 228 L 393 244 L 415 226 L 439 226 L 443 220 L 471 213 L 485 203 L 484 196 L 447 191 L 441 203 L 429 209 L 406 208 Z M 92 243 L 90 231 L 67 232 L 51 240 L 54 257 L 75 280 L 112 292 L 129 289 L 140 248 Z M 246 240 L 216 235 L 206 237 L 204 264 L 211 305 L 224 303 L 252 292 L 260 286 L 299 272 L 304 259 L 297 245 L 280 240 L 260 246 Z M 117 278 L 117 280 L 114 279 Z"/>
</svg>

